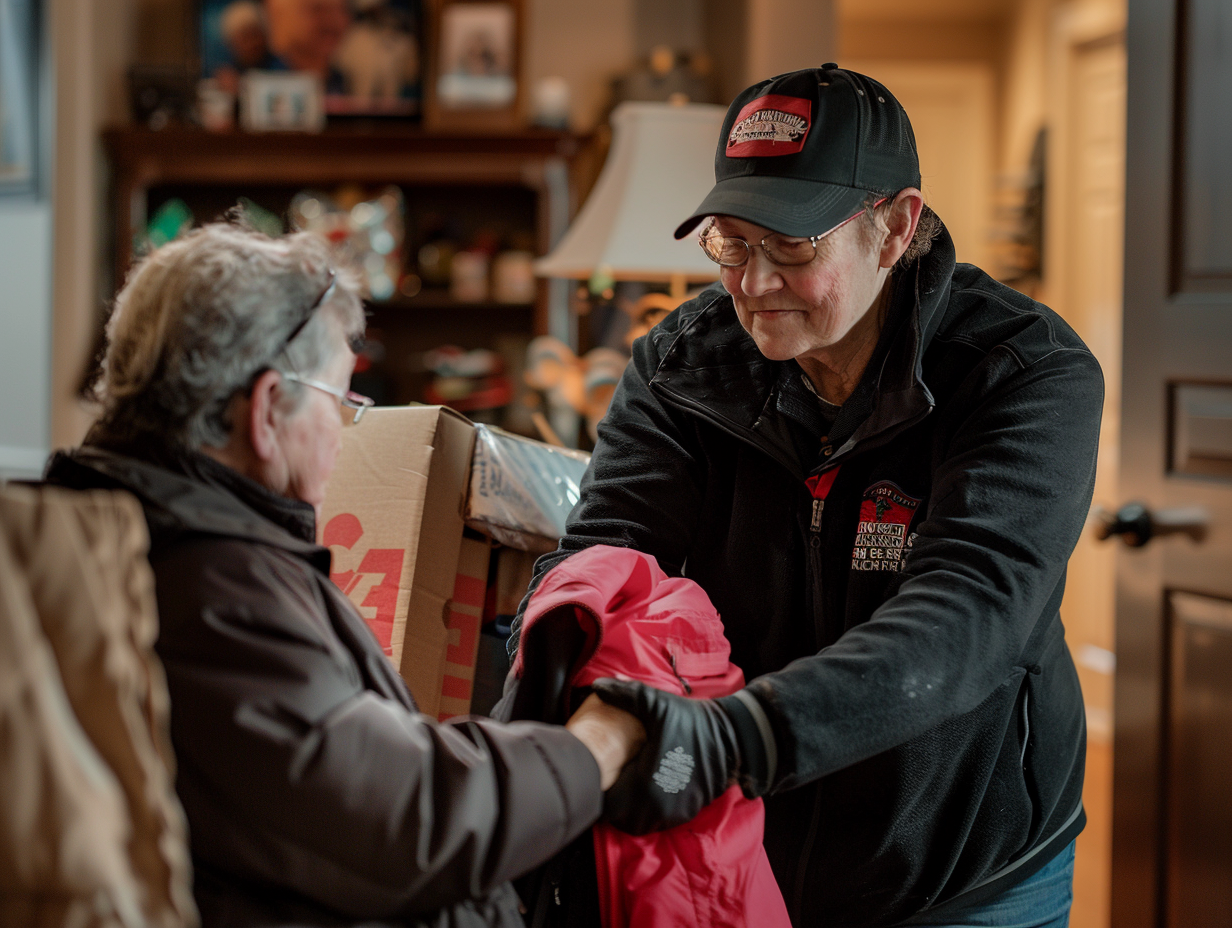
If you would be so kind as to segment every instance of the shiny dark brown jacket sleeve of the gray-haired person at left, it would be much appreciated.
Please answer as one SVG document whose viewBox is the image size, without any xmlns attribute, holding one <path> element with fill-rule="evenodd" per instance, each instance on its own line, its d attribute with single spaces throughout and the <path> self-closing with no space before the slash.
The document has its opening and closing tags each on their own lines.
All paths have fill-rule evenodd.
<svg viewBox="0 0 1232 928">
<path fill-rule="evenodd" d="M 598 765 L 569 732 L 437 723 L 379 695 L 310 568 L 253 547 L 185 542 L 155 563 L 197 860 L 389 918 L 483 898 L 598 818 Z"/>
</svg>

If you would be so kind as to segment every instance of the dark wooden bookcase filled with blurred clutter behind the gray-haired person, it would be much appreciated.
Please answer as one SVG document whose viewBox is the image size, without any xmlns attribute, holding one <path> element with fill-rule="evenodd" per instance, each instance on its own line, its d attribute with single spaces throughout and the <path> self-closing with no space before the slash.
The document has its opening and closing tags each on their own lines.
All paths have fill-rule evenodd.
<svg viewBox="0 0 1232 928">
<path fill-rule="evenodd" d="M 527 349 L 546 335 L 577 345 L 578 327 L 569 288 L 537 280 L 533 261 L 562 237 L 589 180 L 589 139 L 404 123 L 317 134 L 171 124 L 108 129 L 103 143 L 117 286 L 134 256 L 225 214 L 271 235 L 318 232 L 368 306 L 356 389 L 540 434 Z"/>
</svg>

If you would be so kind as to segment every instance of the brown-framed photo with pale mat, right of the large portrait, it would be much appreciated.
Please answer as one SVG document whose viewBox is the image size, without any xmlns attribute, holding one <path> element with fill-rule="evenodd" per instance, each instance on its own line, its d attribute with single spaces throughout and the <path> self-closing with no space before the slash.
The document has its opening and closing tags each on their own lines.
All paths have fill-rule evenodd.
<svg viewBox="0 0 1232 928">
<path fill-rule="evenodd" d="M 501 131 L 522 123 L 521 0 L 436 0 L 425 123 Z"/>
</svg>

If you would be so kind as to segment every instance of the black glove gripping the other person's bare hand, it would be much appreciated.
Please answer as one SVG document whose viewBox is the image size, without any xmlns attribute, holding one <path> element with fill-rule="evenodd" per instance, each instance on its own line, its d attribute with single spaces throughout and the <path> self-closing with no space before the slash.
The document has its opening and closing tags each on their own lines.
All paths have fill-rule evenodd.
<svg viewBox="0 0 1232 928">
<path fill-rule="evenodd" d="M 683 824 L 733 783 L 736 732 L 712 700 L 633 680 L 595 680 L 594 690 L 646 726 L 646 744 L 604 797 L 604 817 L 621 831 L 646 834 Z"/>
</svg>

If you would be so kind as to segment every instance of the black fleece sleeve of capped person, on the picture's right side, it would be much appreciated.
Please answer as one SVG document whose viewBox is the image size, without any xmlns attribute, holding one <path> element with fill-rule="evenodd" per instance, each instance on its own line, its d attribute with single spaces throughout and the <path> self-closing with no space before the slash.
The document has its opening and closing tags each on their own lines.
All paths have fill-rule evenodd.
<svg viewBox="0 0 1232 928">
<path fill-rule="evenodd" d="M 982 399 L 938 452 L 897 588 L 833 646 L 749 686 L 777 736 L 776 789 L 975 710 L 1031 669 L 1029 638 L 1056 621 L 1094 488 L 1103 375 L 1089 351 L 1056 349 L 970 389 Z"/>
</svg>

